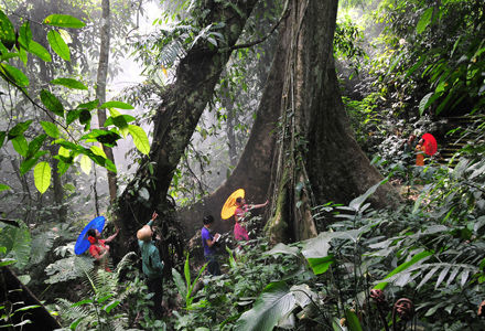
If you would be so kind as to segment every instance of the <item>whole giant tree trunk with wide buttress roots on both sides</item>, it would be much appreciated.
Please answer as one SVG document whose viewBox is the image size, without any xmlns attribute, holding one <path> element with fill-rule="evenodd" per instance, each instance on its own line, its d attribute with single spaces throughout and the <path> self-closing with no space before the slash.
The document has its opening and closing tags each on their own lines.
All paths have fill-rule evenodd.
<svg viewBox="0 0 485 331">
<path fill-rule="evenodd" d="M 316 234 L 311 207 L 348 203 L 382 180 L 353 138 L 341 100 L 333 60 L 337 1 L 290 1 L 289 10 L 245 151 L 224 185 L 182 212 L 190 234 L 196 215 L 218 213 L 230 192 L 245 188 L 255 200 L 271 196 L 273 242 L 305 239 Z M 394 204 L 388 195 L 394 192 L 385 184 L 373 201 Z M 216 224 L 218 231 L 231 225 Z"/>
</svg>

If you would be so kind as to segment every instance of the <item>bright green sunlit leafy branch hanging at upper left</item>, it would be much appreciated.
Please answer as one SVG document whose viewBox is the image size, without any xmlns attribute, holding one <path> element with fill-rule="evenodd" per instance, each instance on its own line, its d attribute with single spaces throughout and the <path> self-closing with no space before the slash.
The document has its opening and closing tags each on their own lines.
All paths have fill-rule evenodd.
<svg viewBox="0 0 485 331">
<path fill-rule="evenodd" d="M 13 128 L 8 128 L 2 131 L 2 137 L 7 136 L 8 140 L 12 142 L 14 150 L 21 157 L 21 173 L 25 174 L 32 168 L 34 168 L 35 186 L 41 193 L 44 193 L 50 186 L 50 173 L 51 169 L 46 163 L 46 157 L 55 158 L 58 162 L 61 173 L 65 173 L 67 169 L 74 163 L 75 158 L 79 154 L 90 158 L 96 164 L 105 167 L 109 171 L 116 172 L 116 166 L 109 161 L 104 153 L 93 151 L 85 146 L 90 142 L 99 142 L 101 145 L 112 147 L 116 141 L 121 137 L 118 135 L 118 129 L 125 134 L 125 130 L 129 130 L 136 142 L 136 147 L 140 148 L 140 151 L 148 154 L 150 151 L 149 141 L 144 131 L 134 125 L 127 128 L 125 121 L 119 119 L 111 119 L 108 117 L 107 130 L 104 134 L 99 134 L 96 130 L 90 130 L 91 111 L 98 108 L 116 107 L 120 109 L 132 109 L 131 105 L 121 102 L 107 102 L 104 105 L 99 105 L 98 100 L 79 104 L 78 106 L 72 106 L 71 100 L 63 100 L 54 88 L 44 88 L 40 92 L 40 100 L 42 105 L 34 100 L 25 89 L 31 87 L 31 82 L 28 75 L 23 71 L 30 71 L 35 66 L 35 63 L 28 62 L 28 54 L 35 55 L 35 61 L 51 62 L 52 56 L 50 52 L 41 45 L 41 43 L 33 40 L 33 33 L 29 21 L 25 21 L 19 29 L 18 36 L 15 35 L 13 24 L 7 14 L 1 11 L 0 21 L 2 26 L 2 44 L 0 46 L 0 76 L 1 78 L 18 88 L 37 109 L 43 111 L 50 121 L 40 121 L 44 131 L 52 138 L 55 138 L 54 143 L 62 146 L 67 152 L 63 154 L 52 154 L 50 149 L 42 150 L 45 136 L 39 135 L 36 126 L 32 126 L 33 119 L 19 122 Z M 85 23 L 79 19 L 68 14 L 51 14 L 45 18 L 44 28 L 46 29 L 46 40 L 52 51 L 55 52 L 62 60 L 71 61 L 71 50 L 66 40 L 71 39 L 69 34 L 58 28 L 80 29 L 85 26 Z M 36 26 L 35 26 L 36 28 Z M 13 40 L 12 40 L 13 33 Z M 13 43 L 12 43 L 13 41 Z M 3 43 L 4 42 L 4 43 Z M 21 68 L 19 62 L 13 60 L 22 60 L 24 68 Z M 71 89 L 87 90 L 87 86 L 78 79 L 71 77 L 54 78 L 51 82 L 52 86 L 63 86 Z M 66 105 L 66 106 L 65 106 Z M 13 105 L 12 105 L 13 106 Z M 117 113 L 115 117 L 119 118 L 120 114 Z M 29 118 L 29 117 L 28 117 Z M 39 116 L 36 116 L 39 118 Z M 122 117 L 121 117 L 122 118 Z M 78 121 L 84 126 L 84 131 L 88 131 L 85 135 L 75 137 L 73 134 L 73 125 Z M 37 124 L 37 122 L 35 122 Z M 10 124 L 9 124 L 10 126 Z M 28 131 L 29 130 L 29 131 Z M 28 131 L 28 132 L 26 132 Z M 29 136 L 25 136 L 29 134 Z M 25 137 L 33 137 L 32 141 L 28 141 Z M 3 139 L 2 139 L 3 145 Z"/>
</svg>

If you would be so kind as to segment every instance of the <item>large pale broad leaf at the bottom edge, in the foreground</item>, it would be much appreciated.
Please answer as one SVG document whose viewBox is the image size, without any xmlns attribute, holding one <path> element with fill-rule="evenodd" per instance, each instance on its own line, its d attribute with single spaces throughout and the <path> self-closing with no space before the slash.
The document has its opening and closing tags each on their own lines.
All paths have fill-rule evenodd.
<svg viewBox="0 0 485 331">
<path fill-rule="evenodd" d="M 235 330 L 270 331 L 294 308 L 295 299 L 284 281 L 269 284 L 251 310 L 237 320 Z"/>
</svg>

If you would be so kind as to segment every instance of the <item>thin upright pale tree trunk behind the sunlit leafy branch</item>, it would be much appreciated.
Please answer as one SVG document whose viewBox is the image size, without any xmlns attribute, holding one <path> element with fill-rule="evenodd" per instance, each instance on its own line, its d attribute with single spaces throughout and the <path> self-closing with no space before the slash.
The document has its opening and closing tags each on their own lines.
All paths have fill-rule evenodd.
<svg viewBox="0 0 485 331">
<path fill-rule="evenodd" d="M 108 77 L 108 64 L 109 64 L 109 42 L 110 42 L 110 26 L 111 26 L 111 18 L 109 10 L 109 0 L 103 0 L 103 14 L 101 14 L 101 28 L 100 28 L 100 46 L 99 46 L 99 64 L 98 64 L 98 75 L 96 78 L 96 98 L 103 105 L 106 102 L 106 81 Z M 106 121 L 106 109 L 98 110 L 98 122 L 100 129 L 105 128 Z M 106 153 L 108 160 L 115 163 L 115 156 L 112 153 L 112 149 L 103 145 L 103 150 Z M 108 175 L 108 189 L 109 189 L 109 200 L 110 202 L 115 202 L 118 184 L 116 180 L 116 173 L 111 171 L 107 171 Z"/>
</svg>

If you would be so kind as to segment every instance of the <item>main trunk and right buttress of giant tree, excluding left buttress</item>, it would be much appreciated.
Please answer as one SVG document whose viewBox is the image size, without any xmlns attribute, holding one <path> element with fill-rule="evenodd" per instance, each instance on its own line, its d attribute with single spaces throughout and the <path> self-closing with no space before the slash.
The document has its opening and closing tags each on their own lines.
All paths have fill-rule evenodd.
<svg viewBox="0 0 485 331">
<path fill-rule="evenodd" d="M 282 98 L 283 139 L 278 147 L 272 188 L 273 242 L 316 235 L 311 207 L 348 203 L 382 180 L 351 131 L 333 58 L 337 0 L 291 1 Z M 390 185 L 379 188 L 377 206 L 392 201 Z"/>
</svg>

